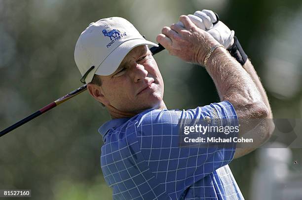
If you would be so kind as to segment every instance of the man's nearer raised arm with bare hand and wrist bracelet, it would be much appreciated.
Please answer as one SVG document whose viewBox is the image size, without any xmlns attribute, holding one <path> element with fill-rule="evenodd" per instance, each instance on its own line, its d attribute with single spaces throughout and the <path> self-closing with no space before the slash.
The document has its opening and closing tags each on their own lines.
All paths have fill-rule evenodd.
<svg viewBox="0 0 302 200">
<path fill-rule="evenodd" d="M 160 42 L 171 55 L 181 59 L 204 65 L 206 55 L 213 50 L 215 45 L 220 45 L 209 33 L 197 28 L 188 16 L 182 15 L 180 21 L 185 28 L 173 24 L 164 27 L 162 34 L 157 36 Z M 252 80 L 251 76 L 223 47 L 216 48 L 208 57 L 205 69 L 214 80 L 219 96 L 222 101 L 229 101 L 239 119 L 264 119 L 267 118 L 269 110 Z M 261 127 L 260 132 L 268 135 L 269 127 L 260 124 L 259 120 L 252 120 L 252 123 L 243 123 L 240 126 L 240 134 L 245 133 L 257 126 Z M 244 149 L 236 149 L 236 157 L 253 151 L 266 140 L 265 136 L 254 146 Z"/>
</svg>

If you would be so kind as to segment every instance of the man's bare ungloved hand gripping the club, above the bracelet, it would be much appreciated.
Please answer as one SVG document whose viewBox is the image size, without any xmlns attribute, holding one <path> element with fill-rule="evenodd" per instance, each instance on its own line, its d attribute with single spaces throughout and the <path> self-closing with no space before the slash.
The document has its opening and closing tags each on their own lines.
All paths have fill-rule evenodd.
<svg viewBox="0 0 302 200">
<path fill-rule="evenodd" d="M 202 64 L 212 46 L 219 44 L 209 33 L 196 27 L 187 15 L 179 17 L 185 26 L 172 24 L 163 27 L 162 34 L 156 40 L 165 47 L 171 55 L 175 55 L 186 62 Z"/>
</svg>

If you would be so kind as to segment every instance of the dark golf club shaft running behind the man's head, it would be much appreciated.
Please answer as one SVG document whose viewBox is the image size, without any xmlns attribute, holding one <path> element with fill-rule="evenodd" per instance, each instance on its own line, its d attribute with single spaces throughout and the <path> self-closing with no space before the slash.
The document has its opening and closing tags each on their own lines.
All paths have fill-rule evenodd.
<svg viewBox="0 0 302 200">
<path fill-rule="evenodd" d="M 163 49 L 165 49 L 165 48 L 162 45 L 158 44 L 158 47 L 156 47 L 156 46 L 151 47 L 150 51 L 153 55 L 155 55 L 156 53 L 162 51 Z M 47 106 L 44 106 L 43 108 L 39 109 L 37 112 L 31 114 L 30 116 L 18 121 L 17 123 L 14 123 L 13 125 L 5 128 L 4 130 L 2 130 L 0 132 L 0 137 L 5 135 L 6 133 L 9 133 L 10 131 L 16 129 L 17 127 L 29 122 L 30 120 L 37 118 L 38 116 L 42 115 L 43 113 L 46 113 L 47 111 L 58 106 L 59 104 L 73 98 L 74 96 L 85 91 L 86 89 L 87 89 L 87 84 L 84 84 L 84 85 L 80 86 L 79 88 L 77 88 L 76 90 L 68 93 L 67 95 L 55 100 L 54 102 L 48 104 Z"/>
</svg>

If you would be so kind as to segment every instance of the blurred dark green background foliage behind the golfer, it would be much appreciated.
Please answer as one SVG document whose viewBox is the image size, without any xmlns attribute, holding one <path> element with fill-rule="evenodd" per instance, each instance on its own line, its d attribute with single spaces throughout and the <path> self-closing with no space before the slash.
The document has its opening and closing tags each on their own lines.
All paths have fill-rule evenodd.
<svg viewBox="0 0 302 200">
<path fill-rule="evenodd" d="M 302 115 L 302 1 L 299 0 L 0 0 L 0 129 L 81 85 L 74 61 L 79 34 L 90 22 L 128 19 L 155 42 L 181 14 L 212 9 L 235 31 L 267 91 L 274 118 Z M 204 69 L 155 56 L 168 109 L 219 102 Z M 34 200 L 109 200 L 100 167 L 98 127 L 108 112 L 84 92 L 0 138 L 0 189 L 31 189 Z M 258 151 L 258 150 L 257 150 Z M 291 166 L 301 174 L 301 149 Z M 249 199 L 255 152 L 230 164 Z"/>
</svg>

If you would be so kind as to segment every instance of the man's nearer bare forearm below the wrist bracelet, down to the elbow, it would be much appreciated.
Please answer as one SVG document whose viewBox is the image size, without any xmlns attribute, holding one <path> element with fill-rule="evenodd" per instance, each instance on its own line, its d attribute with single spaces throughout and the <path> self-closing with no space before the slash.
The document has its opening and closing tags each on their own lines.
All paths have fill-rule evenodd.
<svg viewBox="0 0 302 200">
<path fill-rule="evenodd" d="M 217 48 L 206 65 L 212 77 L 220 99 L 227 100 L 234 106 L 238 118 L 261 118 L 263 100 L 250 75 L 230 56 L 224 48 Z M 265 107 L 265 106 L 264 106 Z"/>
</svg>

